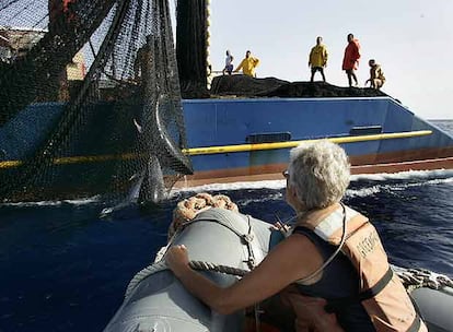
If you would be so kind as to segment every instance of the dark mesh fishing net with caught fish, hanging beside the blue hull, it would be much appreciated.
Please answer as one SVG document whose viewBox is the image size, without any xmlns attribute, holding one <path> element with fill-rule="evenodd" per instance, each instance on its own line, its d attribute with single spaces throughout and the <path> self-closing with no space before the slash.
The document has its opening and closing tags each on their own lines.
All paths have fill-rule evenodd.
<svg viewBox="0 0 453 332">
<path fill-rule="evenodd" d="M 0 200 L 155 202 L 185 147 L 166 0 L 0 2 Z"/>
</svg>

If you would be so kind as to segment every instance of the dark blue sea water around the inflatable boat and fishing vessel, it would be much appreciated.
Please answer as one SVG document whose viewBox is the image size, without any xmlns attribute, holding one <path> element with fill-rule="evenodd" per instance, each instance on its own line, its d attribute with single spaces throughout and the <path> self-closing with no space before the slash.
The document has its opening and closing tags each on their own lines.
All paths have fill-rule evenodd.
<svg viewBox="0 0 453 332">
<path fill-rule="evenodd" d="M 453 133 L 453 120 L 431 122 Z M 292 215 L 283 181 L 200 190 L 268 222 Z M 130 278 L 166 244 L 175 204 L 191 194 L 107 220 L 98 198 L 0 205 L 0 331 L 102 331 Z M 453 277 L 453 170 L 355 176 L 346 203 L 370 216 L 392 263 Z"/>
</svg>

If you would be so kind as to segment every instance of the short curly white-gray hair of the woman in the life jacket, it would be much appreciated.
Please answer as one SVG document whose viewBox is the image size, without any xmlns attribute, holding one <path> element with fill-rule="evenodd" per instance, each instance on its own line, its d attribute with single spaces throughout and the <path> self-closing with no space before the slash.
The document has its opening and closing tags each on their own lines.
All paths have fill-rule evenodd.
<svg viewBox="0 0 453 332">
<path fill-rule="evenodd" d="M 339 202 L 349 186 L 348 156 L 328 140 L 302 143 L 292 149 L 288 171 L 289 183 L 306 210 Z"/>
</svg>

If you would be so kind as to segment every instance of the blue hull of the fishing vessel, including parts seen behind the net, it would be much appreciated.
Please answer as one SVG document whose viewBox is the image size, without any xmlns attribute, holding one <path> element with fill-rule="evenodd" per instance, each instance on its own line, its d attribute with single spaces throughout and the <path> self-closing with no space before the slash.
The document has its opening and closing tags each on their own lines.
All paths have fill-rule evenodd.
<svg viewBox="0 0 453 332">
<path fill-rule="evenodd" d="M 176 187 L 281 179 L 291 147 L 287 143 L 323 138 L 339 140 L 356 174 L 453 168 L 453 138 L 391 97 L 189 99 L 183 100 L 183 110 L 194 175 Z M 39 146 L 61 111 L 59 103 L 31 105 L 0 128 L 0 175 L 8 176 Z M 88 120 L 92 130 L 58 167 L 61 180 L 54 186 L 59 191 L 81 188 L 76 191 L 90 194 L 102 187 L 100 179 L 86 188 L 80 174 L 113 164 L 111 128 L 124 130 L 121 143 L 132 145 L 132 117 L 125 121 L 115 111 L 109 103 L 96 106 Z M 400 133 L 409 134 L 381 138 Z"/>
</svg>

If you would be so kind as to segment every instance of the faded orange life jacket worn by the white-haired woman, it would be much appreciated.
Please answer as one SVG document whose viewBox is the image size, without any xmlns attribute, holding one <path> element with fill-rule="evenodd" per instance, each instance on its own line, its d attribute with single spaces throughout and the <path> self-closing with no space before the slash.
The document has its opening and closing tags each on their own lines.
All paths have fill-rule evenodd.
<svg viewBox="0 0 453 332">
<path fill-rule="evenodd" d="M 374 226 L 359 212 L 344 209 L 315 212 L 303 221 L 304 227 L 334 246 L 340 245 L 344 221 L 346 223 L 341 251 L 359 273 L 360 293 L 357 298 L 338 299 L 339 304 L 361 301 L 379 332 L 428 331 L 398 276 L 393 273 Z"/>
</svg>

